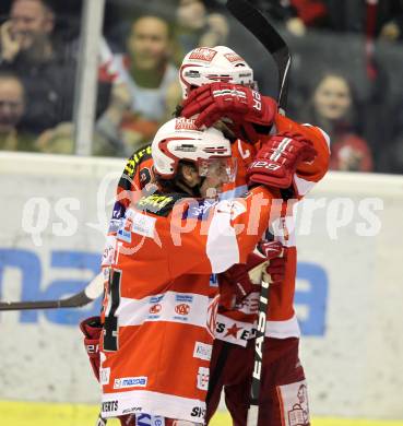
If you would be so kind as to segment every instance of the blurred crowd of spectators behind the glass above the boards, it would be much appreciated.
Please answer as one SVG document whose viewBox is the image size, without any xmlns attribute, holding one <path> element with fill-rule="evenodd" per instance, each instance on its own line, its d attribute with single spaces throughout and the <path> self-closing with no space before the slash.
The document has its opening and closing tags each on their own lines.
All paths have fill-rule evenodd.
<svg viewBox="0 0 403 426">
<path fill-rule="evenodd" d="M 403 0 L 250 0 L 293 55 L 287 115 L 331 137 L 331 168 L 403 174 Z M 0 150 L 74 154 L 81 0 L 2 0 Z M 178 67 L 227 45 L 263 94 L 277 75 L 225 0 L 106 0 L 93 155 L 131 155 L 180 102 Z"/>
</svg>

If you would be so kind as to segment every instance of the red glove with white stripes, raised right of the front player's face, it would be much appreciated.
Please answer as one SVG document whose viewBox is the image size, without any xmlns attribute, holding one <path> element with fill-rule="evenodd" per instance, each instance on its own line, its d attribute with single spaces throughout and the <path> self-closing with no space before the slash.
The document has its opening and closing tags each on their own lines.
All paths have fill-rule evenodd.
<svg viewBox="0 0 403 426">
<path fill-rule="evenodd" d="M 297 133 L 278 133 L 264 143 L 248 169 L 248 184 L 288 188 L 300 162 L 317 155 L 312 142 Z"/>
</svg>

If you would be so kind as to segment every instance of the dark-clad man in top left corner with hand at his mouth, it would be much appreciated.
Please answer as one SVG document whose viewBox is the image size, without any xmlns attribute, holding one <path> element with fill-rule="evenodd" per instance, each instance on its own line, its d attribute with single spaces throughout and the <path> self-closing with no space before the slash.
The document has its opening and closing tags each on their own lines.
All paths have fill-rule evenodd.
<svg viewBox="0 0 403 426">
<path fill-rule="evenodd" d="M 54 25 L 45 0 L 13 0 L 0 29 L 1 68 L 19 74 L 26 88 L 21 126 L 37 134 L 72 118 L 75 62 L 55 46 Z"/>
</svg>

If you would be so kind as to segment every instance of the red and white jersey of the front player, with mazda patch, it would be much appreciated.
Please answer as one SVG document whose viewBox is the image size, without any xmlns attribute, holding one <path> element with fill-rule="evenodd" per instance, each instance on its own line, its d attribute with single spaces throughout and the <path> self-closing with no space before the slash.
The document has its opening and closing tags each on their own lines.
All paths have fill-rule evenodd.
<svg viewBox="0 0 403 426">
<path fill-rule="evenodd" d="M 213 202 L 143 193 L 126 206 L 104 257 L 102 415 L 202 423 L 217 287 L 210 276 L 245 262 L 274 197 L 257 187 Z M 117 223 L 114 224 L 116 226 Z"/>
</svg>

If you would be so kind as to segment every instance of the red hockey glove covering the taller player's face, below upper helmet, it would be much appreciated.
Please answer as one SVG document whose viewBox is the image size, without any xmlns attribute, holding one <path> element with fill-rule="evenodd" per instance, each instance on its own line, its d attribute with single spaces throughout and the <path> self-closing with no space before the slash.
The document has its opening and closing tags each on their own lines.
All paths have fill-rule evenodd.
<svg viewBox="0 0 403 426">
<path fill-rule="evenodd" d="M 190 92 L 181 115 L 190 118 L 197 114 L 194 125 L 211 127 L 223 117 L 270 126 L 277 113 L 277 104 L 268 96 L 239 84 L 211 83 Z"/>
</svg>

